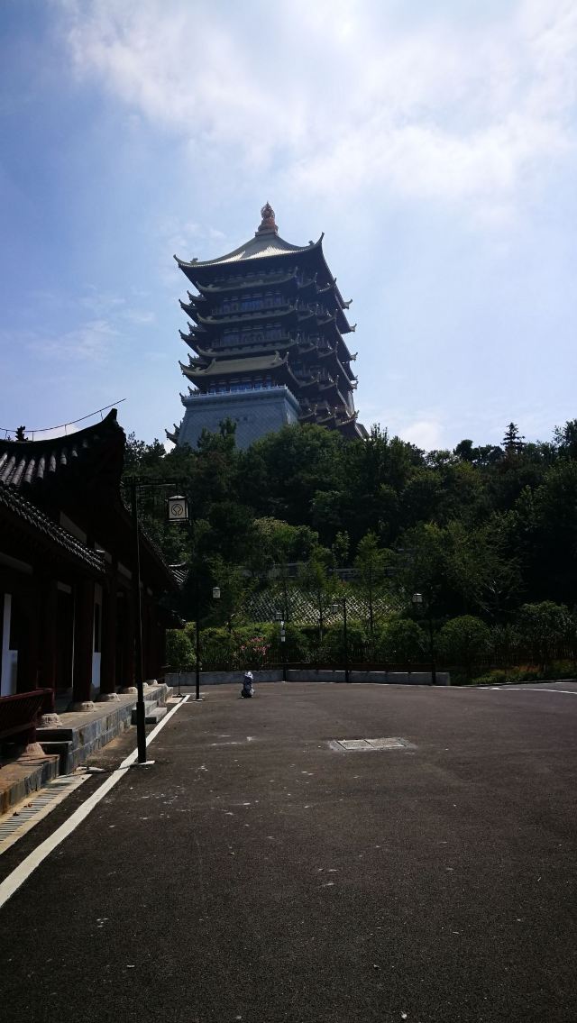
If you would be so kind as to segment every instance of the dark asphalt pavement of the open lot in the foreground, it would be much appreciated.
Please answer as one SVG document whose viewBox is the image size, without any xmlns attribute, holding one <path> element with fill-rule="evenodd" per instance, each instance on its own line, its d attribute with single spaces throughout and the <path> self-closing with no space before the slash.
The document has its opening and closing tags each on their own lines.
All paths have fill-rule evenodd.
<svg viewBox="0 0 577 1023">
<path fill-rule="evenodd" d="M 3 1023 L 577 1019 L 577 684 L 238 694 L 180 705 L 0 909 Z"/>
</svg>

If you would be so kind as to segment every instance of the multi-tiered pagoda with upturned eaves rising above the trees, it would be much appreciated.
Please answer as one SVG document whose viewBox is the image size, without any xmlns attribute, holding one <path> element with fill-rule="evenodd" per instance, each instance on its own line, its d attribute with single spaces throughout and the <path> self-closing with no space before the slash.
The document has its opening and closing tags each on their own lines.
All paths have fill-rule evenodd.
<svg viewBox="0 0 577 1023">
<path fill-rule="evenodd" d="M 174 258 L 195 291 L 181 302 L 191 349 L 180 363 L 192 385 L 185 412 L 167 437 L 195 447 L 204 429 L 236 424 L 236 443 L 290 424 L 317 424 L 345 437 L 365 437 L 357 422 L 357 379 L 344 339 L 355 325 L 318 241 L 294 246 L 278 234 L 267 203 L 245 244 L 218 259 Z"/>
</svg>

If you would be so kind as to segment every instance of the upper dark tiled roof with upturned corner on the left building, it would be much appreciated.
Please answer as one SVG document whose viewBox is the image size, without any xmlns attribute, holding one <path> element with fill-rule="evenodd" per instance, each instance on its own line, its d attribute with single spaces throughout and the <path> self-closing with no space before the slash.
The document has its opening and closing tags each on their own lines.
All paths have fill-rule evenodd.
<svg viewBox="0 0 577 1023">
<path fill-rule="evenodd" d="M 119 448 L 114 472 L 118 473 L 120 481 L 124 431 L 117 422 L 114 408 L 101 422 L 66 437 L 39 441 L 0 440 L 0 483 L 18 489 L 50 484 L 77 465 L 92 463 L 99 452 L 109 448 L 110 441 Z M 109 459 L 107 468 L 110 469 Z"/>
</svg>

